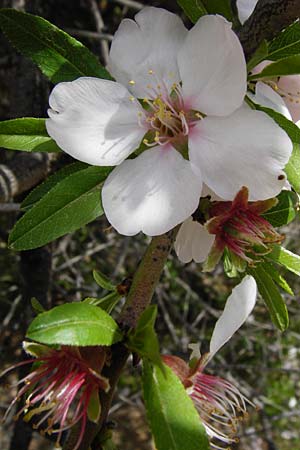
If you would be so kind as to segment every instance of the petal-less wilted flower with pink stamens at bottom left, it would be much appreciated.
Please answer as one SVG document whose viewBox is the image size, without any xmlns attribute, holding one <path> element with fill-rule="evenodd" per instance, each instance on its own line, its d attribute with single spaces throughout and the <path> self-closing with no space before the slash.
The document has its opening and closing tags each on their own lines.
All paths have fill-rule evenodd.
<svg viewBox="0 0 300 450">
<path fill-rule="evenodd" d="M 96 415 L 100 414 L 99 390 L 108 391 L 110 387 L 108 380 L 100 375 L 105 351 L 101 347 L 95 351 L 93 347 L 69 346 L 57 350 L 34 343 L 24 343 L 24 348 L 38 356 L 8 369 L 34 363 L 31 372 L 18 382 L 23 387 L 19 389 L 4 419 L 15 403 L 25 396 L 25 405 L 19 409 L 15 418 L 24 413 L 24 420 L 30 421 L 37 416 L 33 427 L 42 428 L 43 434 L 57 433 L 57 446 L 63 431 L 81 423 L 74 447 L 76 450 L 83 438 L 87 418 L 97 420 L 95 410 Z M 91 403 L 94 409 L 92 416 Z"/>
</svg>

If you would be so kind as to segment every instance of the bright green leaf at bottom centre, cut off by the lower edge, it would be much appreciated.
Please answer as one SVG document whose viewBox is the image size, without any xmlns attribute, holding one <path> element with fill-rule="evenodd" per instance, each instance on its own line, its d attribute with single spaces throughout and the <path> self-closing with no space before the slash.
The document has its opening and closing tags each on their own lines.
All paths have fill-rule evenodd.
<svg viewBox="0 0 300 450">
<path fill-rule="evenodd" d="M 144 401 L 156 449 L 208 450 L 205 429 L 183 384 L 169 367 L 164 373 L 144 362 Z"/>
</svg>

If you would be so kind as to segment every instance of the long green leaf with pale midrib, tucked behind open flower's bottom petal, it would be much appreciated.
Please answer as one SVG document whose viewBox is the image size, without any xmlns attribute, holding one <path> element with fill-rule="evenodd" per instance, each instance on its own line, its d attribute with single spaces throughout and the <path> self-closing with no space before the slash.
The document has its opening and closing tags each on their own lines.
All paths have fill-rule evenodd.
<svg viewBox="0 0 300 450">
<path fill-rule="evenodd" d="M 10 247 L 40 247 L 101 216 L 100 189 L 111 170 L 90 166 L 57 183 L 16 223 L 9 236 Z"/>
</svg>

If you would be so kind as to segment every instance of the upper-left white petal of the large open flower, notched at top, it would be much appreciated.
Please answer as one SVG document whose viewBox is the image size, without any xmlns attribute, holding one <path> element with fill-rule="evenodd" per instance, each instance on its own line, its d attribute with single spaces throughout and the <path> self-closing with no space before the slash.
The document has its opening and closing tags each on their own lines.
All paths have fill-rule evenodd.
<svg viewBox="0 0 300 450">
<path fill-rule="evenodd" d="M 176 58 L 186 33 L 175 14 L 161 8 L 144 8 L 135 21 L 121 22 L 112 41 L 109 70 L 140 98 L 149 94 L 148 84 L 156 86 L 164 82 L 170 90 L 179 81 Z M 149 70 L 154 74 L 150 75 Z M 130 81 L 135 84 L 129 85 Z"/>
</svg>

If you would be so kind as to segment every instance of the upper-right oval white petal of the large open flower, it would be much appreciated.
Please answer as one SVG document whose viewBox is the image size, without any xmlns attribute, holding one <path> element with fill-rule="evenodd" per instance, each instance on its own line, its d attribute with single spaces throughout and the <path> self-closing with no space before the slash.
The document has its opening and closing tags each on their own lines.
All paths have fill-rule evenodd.
<svg viewBox="0 0 300 450">
<path fill-rule="evenodd" d="M 204 114 L 224 116 L 239 108 L 246 93 L 242 46 L 221 16 L 201 17 L 178 54 L 184 98 Z"/>
</svg>

